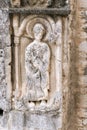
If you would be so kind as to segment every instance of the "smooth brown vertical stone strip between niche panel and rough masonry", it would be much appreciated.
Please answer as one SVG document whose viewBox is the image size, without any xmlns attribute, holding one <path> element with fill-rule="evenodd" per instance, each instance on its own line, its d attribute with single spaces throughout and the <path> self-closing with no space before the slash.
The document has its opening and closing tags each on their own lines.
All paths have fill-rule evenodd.
<svg viewBox="0 0 87 130">
<path fill-rule="evenodd" d="M 76 108 L 75 108 L 75 88 L 77 82 L 76 74 L 76 1 L 70 1 L 71 13 L 68 16 L 66 27 L 68 28 L 68 37 L 66 37 L 67 43 L 64 47 L 64 74 L 63 74 L 63 94 L 64 94 L 64 124 L 63 130 L 75 130 L 76 122 Z"/>
</svg>

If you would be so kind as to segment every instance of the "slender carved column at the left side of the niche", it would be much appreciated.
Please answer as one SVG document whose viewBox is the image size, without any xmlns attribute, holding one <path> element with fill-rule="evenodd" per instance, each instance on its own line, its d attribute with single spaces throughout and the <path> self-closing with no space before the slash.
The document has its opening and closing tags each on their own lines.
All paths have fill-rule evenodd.
<svg viewBox="0 0 87 130">
<path fill-rule="evenodd" d="M 20 69 L 19 69 L 19 54 L 20 54 L 20 38 L 18 37 L 18 25 L 19 25 L 19 17 L 17 15 L 13 16 L 13 27 L 14 29 L 14 59 L 15 59 L 15 88 L 16 88 L 16 98 L 20 96 Z"/>
</svg>

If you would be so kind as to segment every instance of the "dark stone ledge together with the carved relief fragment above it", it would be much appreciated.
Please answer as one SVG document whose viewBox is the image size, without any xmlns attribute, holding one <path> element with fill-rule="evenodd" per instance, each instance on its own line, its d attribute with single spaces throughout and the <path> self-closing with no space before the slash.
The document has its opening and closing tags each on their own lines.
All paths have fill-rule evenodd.
<svg viewBox="0 0 87 130">
<path fill-rule="evenodd" d="M 11 14 L 52 14 L 67 16 L 70 13 L 68 0 L 10 0 L 10 3 L 9 13 Z"/>
</svg>

